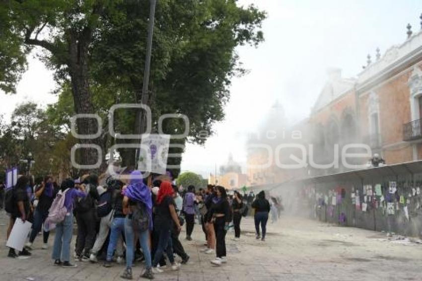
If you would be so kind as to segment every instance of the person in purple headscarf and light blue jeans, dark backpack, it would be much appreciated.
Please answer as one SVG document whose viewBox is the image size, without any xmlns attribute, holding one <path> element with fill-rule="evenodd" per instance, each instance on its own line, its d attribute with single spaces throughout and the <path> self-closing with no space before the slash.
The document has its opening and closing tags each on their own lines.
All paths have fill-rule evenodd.
<svg viewBox="0 0 422 281">
<path fill-rule="evenodd" d="M 123 187 L 123 195 L 123 212 L 126 214 L 124 225 L 126 241 L 126 269 L 120 277 L 124 279 L 132 279 L 132 264 L 135 254 L 135 234 L 138 234 L 143 257 L 145 258 L 145 271 L 141 274 L 141 278 L 154 279 L 151 270 L 151 253 L 148 246 L 149 232 L 152 230 L 151 191 L 142 182 L 142 174 L 140 171 L 134 171 L 131 173 L 129 185 Z M 134 217 L 134 214 L 142 214 L 143 216 Z M 139 220 L 138 218 L 143 219 L 143 221 L 147 219 L 145 229 L 134 229 L 134 225 L 137 225 L 137 223 L 134 224 L 133 219 Z M 107 259 L 109 259 L 109 254 L 110 252 L 107 251 Z"/>
</svg>

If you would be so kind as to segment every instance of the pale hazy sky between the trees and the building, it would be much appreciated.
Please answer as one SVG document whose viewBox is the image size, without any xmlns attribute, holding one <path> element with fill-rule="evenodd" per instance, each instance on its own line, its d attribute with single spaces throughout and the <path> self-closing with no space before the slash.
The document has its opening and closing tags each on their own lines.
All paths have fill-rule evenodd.
<svg viewBox="0 0 422 281">
<path fill-rule="evenodd" d="M 276 101 L 288 123 L 303 120 L 326 81 L 326 70 L 342 69 L 344 77 L 356 77 L 366 64 L 391 46 L 406 40 L 406 25 L 421 28 L 420 0 L 239 0 L 267 11 L 262 30 L 265 42 L 258 48 L 237 48 L 249 73 L 234 77 L 225 118 L 214 125 L 215 135 L 205 145 L 188 144 L 182 170 L 208 177 L 223 165 L 229 153 L 246 171 L 247 135 L 268 118 Z M 53 73 L 29 58 L 29 68 L 17 85 L 16 95 L 0 92 L 0 113 L 6 118 L 24 101 L 42 106 L 54 103 Z"/>
</svg>

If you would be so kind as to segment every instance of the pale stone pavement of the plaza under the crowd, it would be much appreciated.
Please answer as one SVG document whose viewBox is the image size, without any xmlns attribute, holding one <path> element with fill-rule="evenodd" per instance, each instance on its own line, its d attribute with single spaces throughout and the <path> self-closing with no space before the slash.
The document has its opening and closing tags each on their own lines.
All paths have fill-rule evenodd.
<svg viewBox="0 0 422 281">
<path fill-rule="evenodd" d="M 5 239 L 6 216 L 0 211 L 0 238 Z M 422 280 L 422 245 L 406 240 L 390 241 L 385 234 L 363 229 L 338 227 L 303 218 L 281 217 L 269 223 L 266 242 L 255 240 L 252 218 L 242 219 L 241 241 L 227 234 L 228 263 L 214 267 L 212 255 L 200 253 L 204 243 L 201 227 L 195 226 L 193 241 L 182 243 L 191 256 L 179 272 L 166 270 L 155 280 L 180 281 L 279 281 L 279 280 Z M 74 243 L 75 237 L 72 242 Z M 121 280 L 124 265 L 105 269 L 101 264 L 77 263 L 77 268 L 54 267 L 50 249 L 41 249 L 41 236 L 33 255 L 26 260 L 6 258 L 0 247 L 0 281 L 106 281 Z M 142 264 L 134 266 L 138 280 Z"/>
</svg>

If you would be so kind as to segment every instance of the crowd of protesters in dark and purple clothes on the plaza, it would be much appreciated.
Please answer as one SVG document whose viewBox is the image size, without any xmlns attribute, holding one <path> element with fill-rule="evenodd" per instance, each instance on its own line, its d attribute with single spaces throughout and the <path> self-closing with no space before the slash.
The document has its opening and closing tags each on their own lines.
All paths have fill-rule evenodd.
<svg viewBox="0 0 422 281">
<path fill-rule="evenodd" d="M 60 185 L 51 176 L 37 178 L 34 184 L 30 177 L 20 176 L 9 190 L 0 183 L 0 192 L 5 198 L 0 208 L 4 207 L 10 217 L 7 238 L 17 218 L 32 223 L 25 247 L 18 253 L 10 248 L 8 257 L 30 256 L 41 231 L 42 249 L 48 249 L 50 230 L 55 229 L 53 265 L 76 267 L 70 259 L 75 221 L 74 260 L 103 260 L 104 267 L 126 261 L 123 279 L 133 278 L 132 267 L 137 261 L 144 262 L 141 278 L 145 279 L 153 279 L 167 267 L 178 271 L 190 259 L 179 240 L 182 226 L 186 227 L 185 239 L 191 241 L 197 222 L 206 239 L 201 252 L 215 254 L 211 263 L 220 266 L 227 262 L 225 240 L 229 228 L 234 227 L 233 240 L 239 240 L 242 216 L 254 208 L 257 239 L 262 237 L 264 241 L 271 206 L 281 205 L 273 198 L 270 204 L 264 192 L 256 198 L 252 193 L 242 197 L 237 191 L 229 196 L 222 186 L 196 190 L 191 185 L 181 191 L 170 173 L 145 178 L 140 171 L 118 177 L 83 175 L 65 179 Z M 176 255 L 180 263 L 175 261 Z"/>
</svg>

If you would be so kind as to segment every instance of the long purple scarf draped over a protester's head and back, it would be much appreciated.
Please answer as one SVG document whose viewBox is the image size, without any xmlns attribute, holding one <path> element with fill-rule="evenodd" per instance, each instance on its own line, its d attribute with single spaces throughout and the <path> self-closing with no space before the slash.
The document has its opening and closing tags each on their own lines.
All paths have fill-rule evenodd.
<svg viewBox="0 0 422 281">
<path fill-rule="evenodd" d="M 149 229 L 152 230 L 152 199 L 151 191 L 142 182 L 142 174 L 140 171 L 133 171 L 131 173 L 130 184 L 126 187 L 123 194 L 130 200 L 135 202 L 142 202 L 149 216 Z"/>
</svg>

